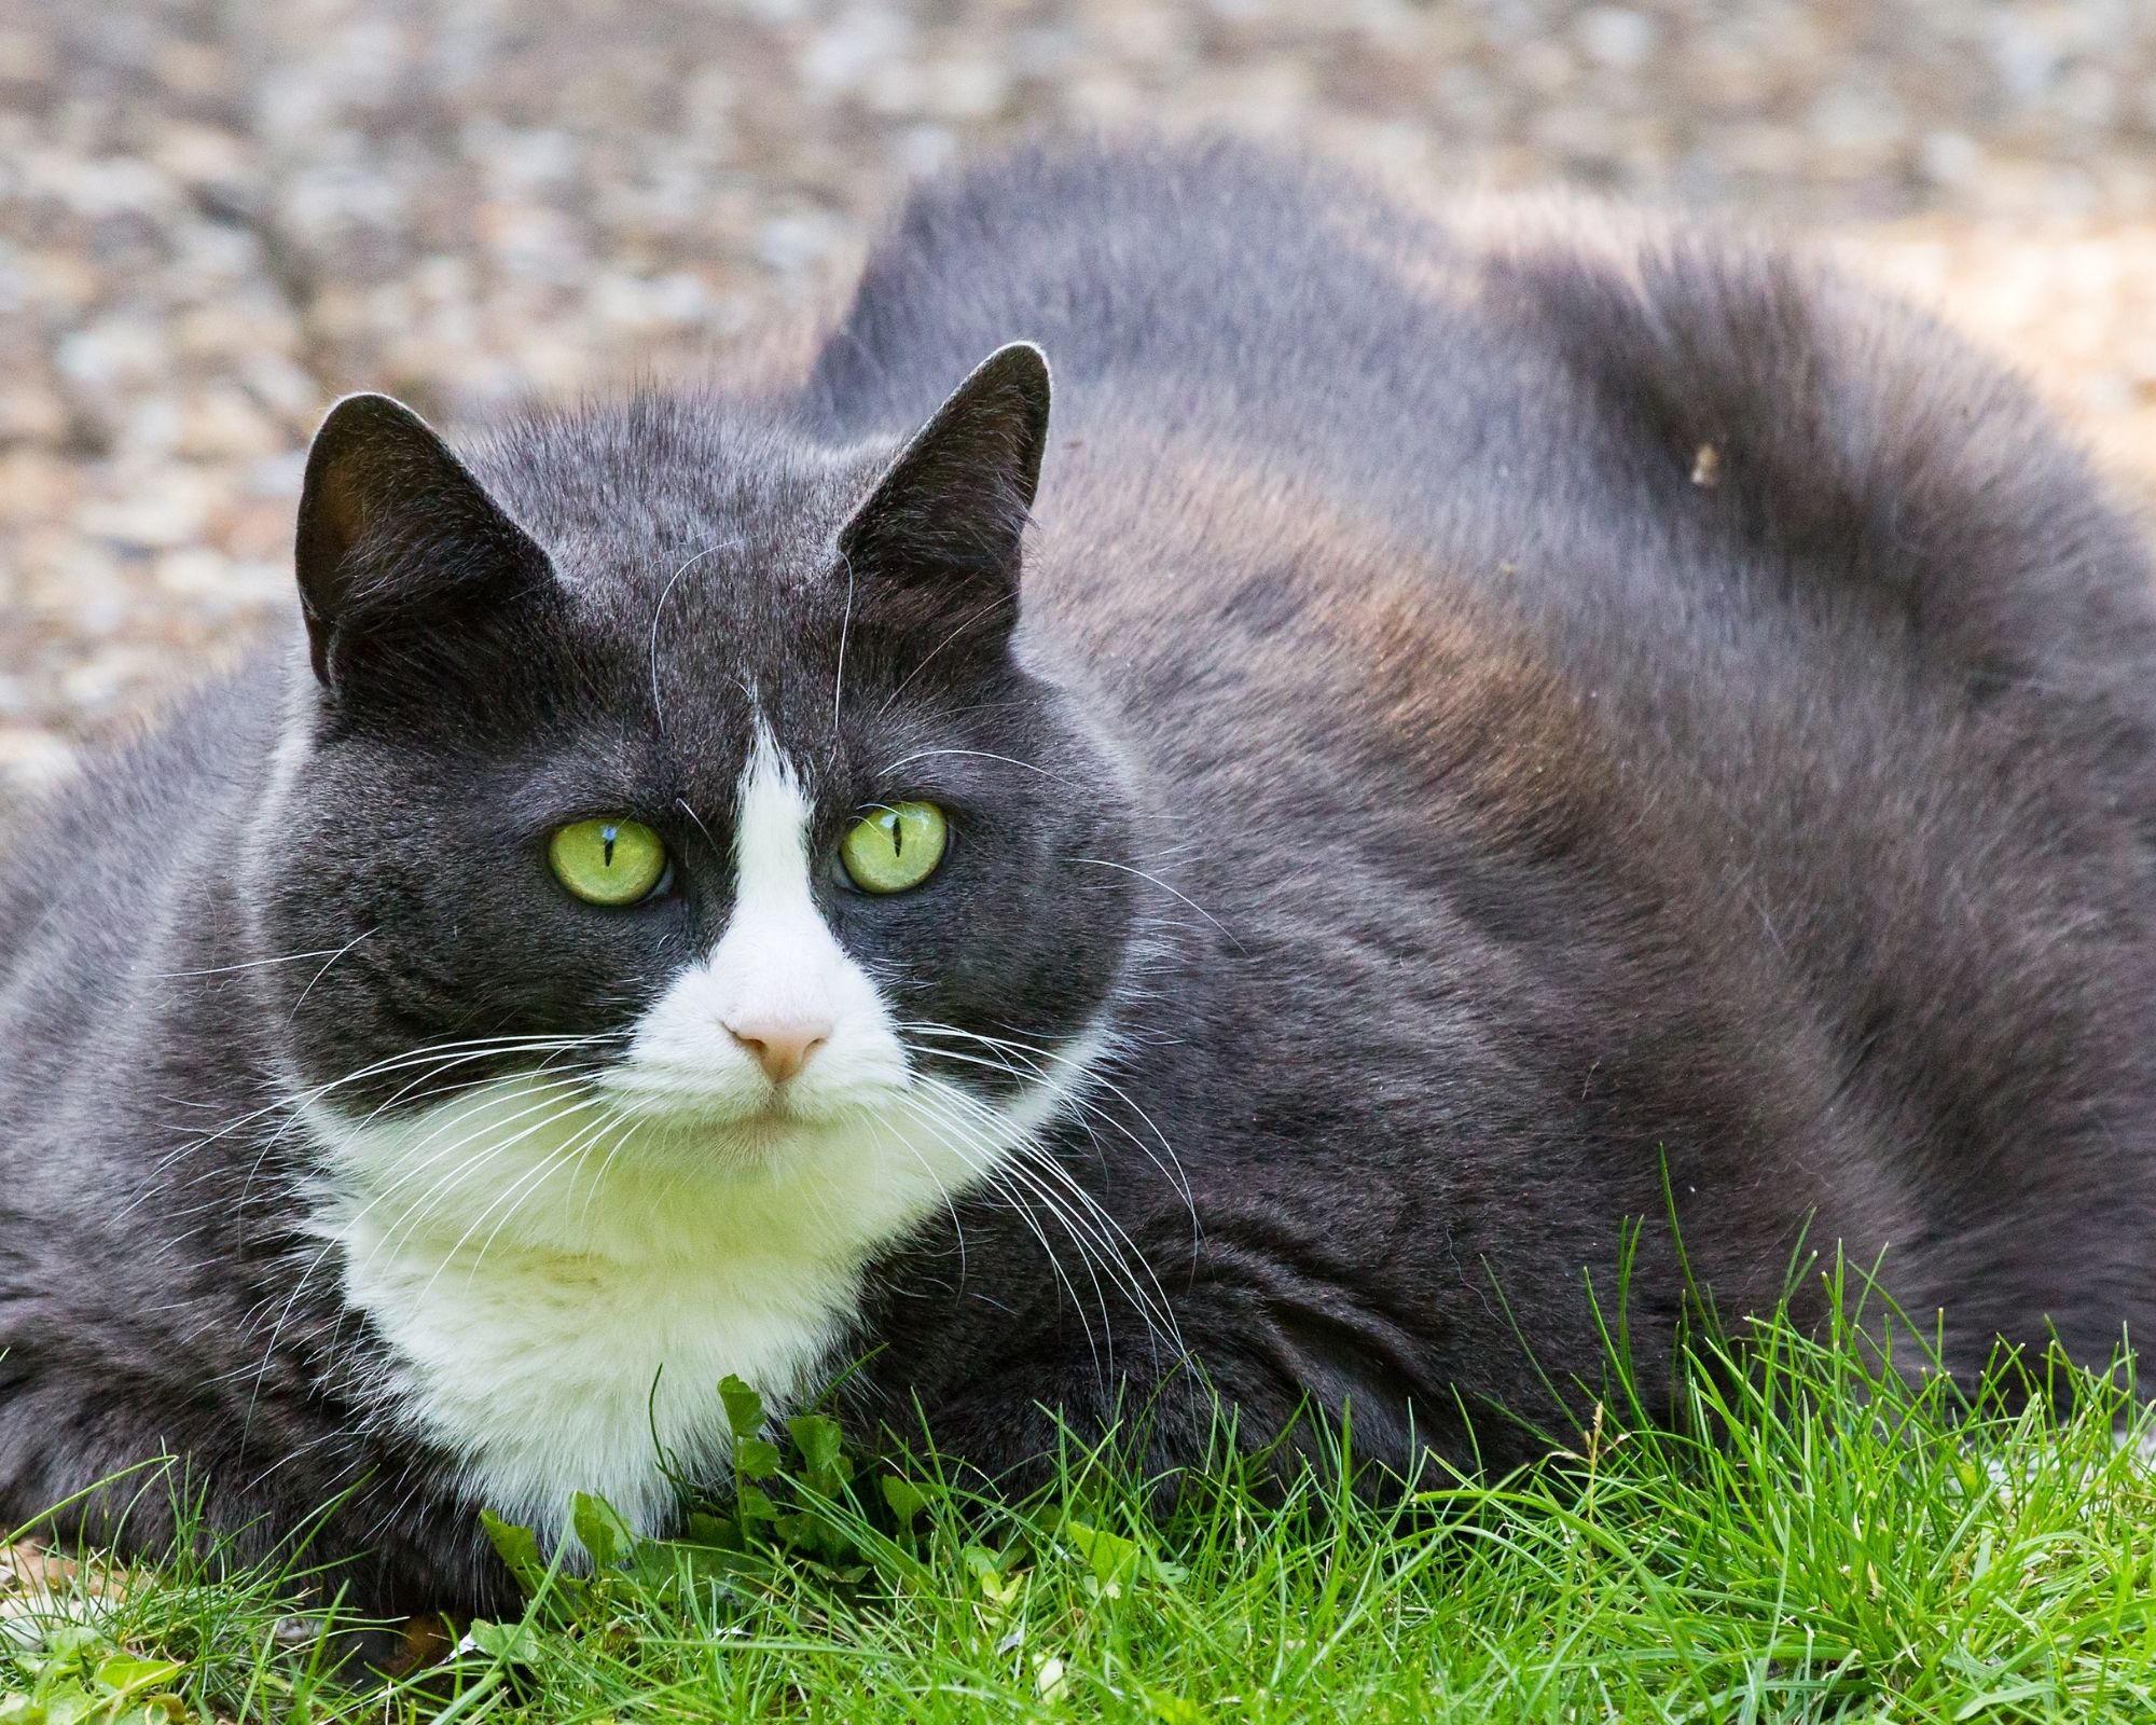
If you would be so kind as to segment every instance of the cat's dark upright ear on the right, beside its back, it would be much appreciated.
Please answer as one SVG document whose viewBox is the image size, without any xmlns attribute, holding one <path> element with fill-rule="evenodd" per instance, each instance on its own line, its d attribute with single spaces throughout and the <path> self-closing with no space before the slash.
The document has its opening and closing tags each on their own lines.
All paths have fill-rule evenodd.
<svg viewBox="0 0 2156 1725">
<path fill-rule="evenodd" d="M 897 623 L 1009 636 L 1046 446 L 1048 356 L 1013 341 L 951 392 L 839 533 L 839 550 L 869 582 L 865 604 Z"/>
</svg>

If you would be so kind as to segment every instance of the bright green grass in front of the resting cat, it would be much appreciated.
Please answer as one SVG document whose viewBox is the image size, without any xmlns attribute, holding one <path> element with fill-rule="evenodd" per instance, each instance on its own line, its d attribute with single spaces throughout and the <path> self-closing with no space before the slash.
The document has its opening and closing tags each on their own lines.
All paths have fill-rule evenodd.
<svg viewBox="0 0 2156 1725">
<path fill-rule="evenodd" d="M 934 1464 L 886 1484 L 811 1417 L 686 1542 L 584 1501 L 591 1578 L 498 1529 L 526 1617 L 420 1682 L 343 1688 L 274 1578 L 183 1563 L 17 1619 L 0 1725 L 2156 1719 L 2156 1490 L 2117 1378 L 2014 1412 L 2012 1367 L 1971 1402 L 1779 1320 L 1686 1361 L 1664 1427 L 1619 1391 L 1572 1451 L 1384 1507 L 1222 1466 L 1156 1514 L 1076 1451 L 1056 1492 L 983 1503 Z"/>
</svg>

